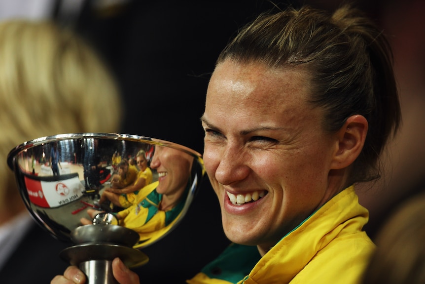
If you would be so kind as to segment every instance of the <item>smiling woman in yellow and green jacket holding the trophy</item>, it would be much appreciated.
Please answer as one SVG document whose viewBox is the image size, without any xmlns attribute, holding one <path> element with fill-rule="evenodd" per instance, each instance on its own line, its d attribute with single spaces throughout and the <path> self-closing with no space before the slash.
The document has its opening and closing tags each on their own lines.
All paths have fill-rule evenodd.
<svg viewBox="0 0 425 284">
<path fill-rule="evenodd" d="M 375 245 L 354 184 L 379 176 L 399 125 L 391 56 L 350 6 L 289 8 L 239 31 L 218 57 L 201 118 L 233 243 L 187 283 L 359 283 Z"/>
</svg>

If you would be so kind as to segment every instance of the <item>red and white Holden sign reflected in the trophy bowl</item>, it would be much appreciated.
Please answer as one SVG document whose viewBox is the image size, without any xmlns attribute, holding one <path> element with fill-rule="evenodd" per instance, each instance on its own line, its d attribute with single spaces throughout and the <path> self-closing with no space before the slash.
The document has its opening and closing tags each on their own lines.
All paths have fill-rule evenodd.
<svg viewBox="0 0 425 284">
<path fill-rule="evenodd" d="M 25 176 L 30 201 L 44 208 L 58 207 L 83 196 L 83 185 L 78 176 L 58 181 L 44 181 Z"/>
</svg>

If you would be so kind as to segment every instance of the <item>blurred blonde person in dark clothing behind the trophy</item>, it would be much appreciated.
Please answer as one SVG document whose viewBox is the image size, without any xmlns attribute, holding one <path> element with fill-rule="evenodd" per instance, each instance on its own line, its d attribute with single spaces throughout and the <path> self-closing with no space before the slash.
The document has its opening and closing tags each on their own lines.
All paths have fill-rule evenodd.
<svg viewBox="0 0 425 284">
<path fill-rule="evenodd" d="M 68 246 L 30 217 L 6 164 L 9 151 L 41 136 L 114 132 L 120 96 L 107 65 L 73 32 L 48 21 L 0 23 L 0 279 L 49 283 Z M 107 114 L 107 115 L 105 115 Z M 24 268 L 24 273 L 14 273 Z M 48 268 L 48 269 L 46 269 Z"/>
</svg>

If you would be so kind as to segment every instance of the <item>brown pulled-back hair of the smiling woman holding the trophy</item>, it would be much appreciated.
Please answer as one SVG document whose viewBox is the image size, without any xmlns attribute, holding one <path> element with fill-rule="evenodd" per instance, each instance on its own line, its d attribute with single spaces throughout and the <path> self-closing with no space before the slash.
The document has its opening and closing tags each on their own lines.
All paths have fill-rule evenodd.
<svg viewBox="0 0 425 284">
<path fill-rule="evenodd" d="M 369 123 L 350 182 L 379 177 L 379 156 L 401 113 L 390 45 L 361 11 L 344 5 L 333 14 L 309 6 L 264 13 L 228 43 L 216 64 L 227 59 L 303 68 L 310 102 L 325 110 L 325 130 L 338 131 L 355 114 Z"/>
</svg>

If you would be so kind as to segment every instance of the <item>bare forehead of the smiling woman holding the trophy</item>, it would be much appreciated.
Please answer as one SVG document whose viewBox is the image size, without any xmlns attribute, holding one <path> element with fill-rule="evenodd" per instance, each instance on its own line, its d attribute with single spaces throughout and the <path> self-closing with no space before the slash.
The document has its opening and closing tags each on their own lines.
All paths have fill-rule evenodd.
<svg viewBox="0 0 425 284">
<path fill-rule="evenodd" d="M 211 78 L 206 109 L 254 107 L 257 112 L 303 106 L 308 87 L 296 69 L 276 70 L 258 63 L 235 63 L 226 60 L 217 65 Z M 304 107 L 304 106 L 303 106 Z"/>
</svg>

